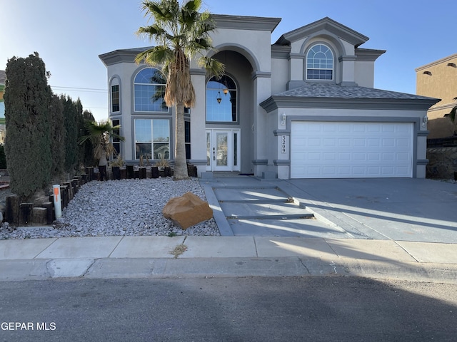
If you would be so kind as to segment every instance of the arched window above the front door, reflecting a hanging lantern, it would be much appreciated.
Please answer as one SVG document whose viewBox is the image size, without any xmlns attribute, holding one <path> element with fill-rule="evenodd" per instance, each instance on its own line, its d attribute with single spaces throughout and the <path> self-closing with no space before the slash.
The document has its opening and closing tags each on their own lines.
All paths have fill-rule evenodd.
<svg viewBox="0 0 457 342">
<path fill-rule="evenodd" d="M 238 120 L 236 84 L 229 76 L 213 77 L 206 83 L 206 121 L 233 123 Z"/>
</svg>

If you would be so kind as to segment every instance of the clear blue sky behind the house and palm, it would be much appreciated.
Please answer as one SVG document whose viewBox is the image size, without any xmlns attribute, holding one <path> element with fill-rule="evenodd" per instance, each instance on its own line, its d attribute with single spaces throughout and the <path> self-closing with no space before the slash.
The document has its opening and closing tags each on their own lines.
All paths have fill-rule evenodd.
<svg viewBox="0 0 457 342">
<path fill-rule="evenodd" d="M 8 58 L 37 51 L 54 93 L 81 98 L 97 120 L 108 117 L 106 68 L 99 54 L 150 45 L 135 35 L 147 24 L 138 0 L 0 0 L 0 70 Z M 370 39 L 361 48 L 386 50 L 375 87 L 416 93 L 415 68 L 457 53 L 455 0 L 205 0 L 214 14 L 268 16 L 281 34 L 325 16 Z"/>
</svg>

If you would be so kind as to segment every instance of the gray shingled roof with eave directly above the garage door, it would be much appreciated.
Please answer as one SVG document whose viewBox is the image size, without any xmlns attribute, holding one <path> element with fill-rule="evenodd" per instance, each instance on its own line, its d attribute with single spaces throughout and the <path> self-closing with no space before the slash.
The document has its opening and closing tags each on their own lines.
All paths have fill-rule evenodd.
<svg viewBox="0 0 457 342">
<path fill-rule="evenodd" d="M 428 110 L 438 98 L 360 86 L 308 82 L 272 95 L 260 105 L 267 112 L 281 108 L 353 108 Z"/>
</svg>

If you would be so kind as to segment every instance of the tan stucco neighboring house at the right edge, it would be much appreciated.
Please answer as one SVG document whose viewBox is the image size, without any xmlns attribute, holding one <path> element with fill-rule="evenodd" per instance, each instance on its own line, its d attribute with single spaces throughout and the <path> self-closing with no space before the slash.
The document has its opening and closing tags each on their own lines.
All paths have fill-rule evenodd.
<svg viewBox="0 0 457 342">
<path fill-rule="evenodd" d="M 416 93 L 441 98 L 428 110 L 428 138 L 446 138 L 456 134 L 448 118 L 457 104 L 457 53 L 416 68 Z"/>
</svg>

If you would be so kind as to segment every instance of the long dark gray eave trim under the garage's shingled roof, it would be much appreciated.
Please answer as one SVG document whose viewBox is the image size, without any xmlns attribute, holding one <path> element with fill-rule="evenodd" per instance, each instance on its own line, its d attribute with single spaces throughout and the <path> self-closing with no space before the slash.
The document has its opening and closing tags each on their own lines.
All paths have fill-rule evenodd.
<svg viewBox="0 0 457 342">
<path fill-rule="evenodd" d="M 278 108 L 427 110 L 435 99 L 404 98 L 312 98 L 273 95 L 260 103 L 267 113 Z"/>
</svg>

